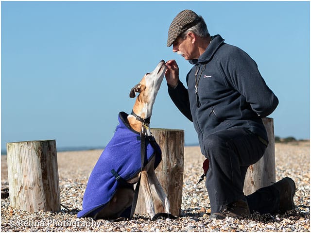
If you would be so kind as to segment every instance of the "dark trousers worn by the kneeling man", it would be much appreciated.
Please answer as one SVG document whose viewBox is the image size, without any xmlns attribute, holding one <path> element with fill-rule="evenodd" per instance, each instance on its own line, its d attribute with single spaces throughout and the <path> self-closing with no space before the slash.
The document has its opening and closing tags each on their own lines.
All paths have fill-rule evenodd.
<svg viewBox="0 0 311 233">
<path fill-rule="evenodd" d="M 274 187 L 265 187 L 247 197 L 243 193 L 248 166 L 264 154 L 258 136 L 247 129 L 232 128 L 207 136 L 205 156 L 209 160 L 206 187 L 211 213 L 219 213 L 227 204 L 247 200 L 251 213 L 275 213 L 279 209 L 279 194 Z"/>
</svg>

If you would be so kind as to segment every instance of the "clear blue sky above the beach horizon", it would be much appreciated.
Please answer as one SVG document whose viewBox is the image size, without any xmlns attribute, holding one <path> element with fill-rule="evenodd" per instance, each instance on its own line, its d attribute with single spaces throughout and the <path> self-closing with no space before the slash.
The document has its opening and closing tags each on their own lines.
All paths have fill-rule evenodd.
<svg viewBox="0 0 311 233">
<path fill-rule="evenodd" d="M 1 149 L 46 139 L 104 147 L 118 113 L 132 110 L 131 87 L 161 59 L 175 59 L 185 83 L 191 65 L 166 47 L 184 9 L 256 61 L 279 98 L 275 135 L 310 138 L 309 1 L 1 1 Z M 184 129 L 186 144 L 198 142 L 165 80 L 151 127 Z"/>
</svg>

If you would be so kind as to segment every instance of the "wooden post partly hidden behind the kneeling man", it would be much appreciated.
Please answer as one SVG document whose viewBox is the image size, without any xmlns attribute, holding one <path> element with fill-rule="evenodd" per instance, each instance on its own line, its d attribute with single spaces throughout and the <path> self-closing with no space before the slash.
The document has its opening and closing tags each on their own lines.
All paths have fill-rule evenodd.
<svg viewBox="0 0 311 233">
<path fill-rule="evenodd" d="M 272 182 L 276 182 L 273 118 L 262 118 L 262 122 L 268 134 L 269 145 L 262 158 L 247 169 L 243 190 L 245 195 L 249 195 L 259 188 L 269 186 Z"/>
</svg>

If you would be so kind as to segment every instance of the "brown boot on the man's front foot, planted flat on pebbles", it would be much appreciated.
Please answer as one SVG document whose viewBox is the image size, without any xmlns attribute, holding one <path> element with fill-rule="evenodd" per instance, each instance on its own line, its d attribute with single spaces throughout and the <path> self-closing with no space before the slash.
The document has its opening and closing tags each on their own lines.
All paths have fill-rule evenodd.
<svg viewBox="0 0 311 233">
<path fill-rule="evenodd" d="M 213 213 L 209 218 L 224 219 L 226 216 L 240 218 L 250 215 L 246 200 L 237 200 L 228 204 L 220 213 Z"/>
</svg>

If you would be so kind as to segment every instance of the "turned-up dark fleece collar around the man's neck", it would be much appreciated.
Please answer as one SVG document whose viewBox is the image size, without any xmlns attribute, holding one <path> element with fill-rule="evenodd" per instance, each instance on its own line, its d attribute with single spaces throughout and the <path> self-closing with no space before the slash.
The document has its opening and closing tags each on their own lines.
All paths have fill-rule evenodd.
<svg viewBox="0 0 311 233">
<path fill-rule="evenodd" d="M 225 39 L 223 39 L 219 34 L 212 36 L 212 40 L 207 46 L 205 52 L 198 59 L 189 60 L 190 64 L 195 65 L 198 63 L 207 63 L 218 48 L 223 45 L 224 41 Z"/>
</svg>

